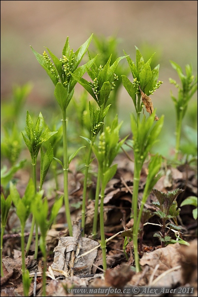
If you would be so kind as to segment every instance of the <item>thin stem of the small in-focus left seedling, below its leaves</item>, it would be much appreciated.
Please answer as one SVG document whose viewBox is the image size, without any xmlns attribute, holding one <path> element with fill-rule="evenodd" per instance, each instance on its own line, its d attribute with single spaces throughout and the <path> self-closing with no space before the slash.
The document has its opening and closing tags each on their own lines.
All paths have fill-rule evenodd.
<svg viewBox="0 0 198 297">
<path fill-rule="evenodd" d="M 32 158 L 32 165 L 33 165 L 34 194 L 36 194 L 36 159 L 34 157 Z M 28 252 L 30 250 L 30 246 L 31 246 L 32 238 L 33 238 L 34 225 L 35 225 L 35 218 L 34 218 L 34 215 L 33 215 L 32 225 L 31 225 L 31 230 L 30 230 L 30 235 L 29 235 L 29 238 L 28 238 L 27 246 L 26 246 L 26 256 L 28 256 Z M 38 242 L 38 225 L 37 225 L 37 230 L 35 229 L 35 232 L 36 232 L 36 234 L 35 234 L 35 241 Z M 35 258 L 35 255 L 37 257 L 37 254 L 38 254 L 38 245 L 37 245 L 37 247 L 35 246 L 34 259 L 36 259 Z"/>
</svg>

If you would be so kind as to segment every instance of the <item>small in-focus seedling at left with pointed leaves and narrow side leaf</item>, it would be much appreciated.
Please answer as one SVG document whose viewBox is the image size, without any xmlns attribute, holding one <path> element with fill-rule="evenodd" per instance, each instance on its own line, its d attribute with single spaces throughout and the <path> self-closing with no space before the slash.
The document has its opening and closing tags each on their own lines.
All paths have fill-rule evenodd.
<svg viewBox="0 0 198 297">
<path fill-rule="evenodd" d="M 22 133 L 22 136 L 23 136 L 23 139 L 25 141 L 26 146 L 28 147 L 28 149 L 30 151 L 30 155 L 31 155 L 31 159 L 32 159 L 34 194 L 36 194 L 36 191 L 37 191 L 37 186 L 36 186 L 36 161 L 37 161 L 38 152 L 39 152 L 39 150 L 41 148 L 42 143 L 47 141 L 48 139 L 50 139 L 50 137 L 53 136 L 55 133 L 57 133 L 57 131 L 48 132 L 47 129 L 43 131 L 44 120 L 43 120 L 43 116 L 42 116 L 41 112 L 39 113 L 38 118 L 36 120 L 36 123 L 34 125 L 33 120 L 31 118 L 29 112 L 27 111 L 26 125 L 27 125 L 27 128 L 25 128 L 25 130 L 26 130 L 26 134 L 27 134 L 28 138 L 25 137 L 23 133 Z M 43 171 L 42 171 L 42 168 L 41 168 L 41 186 L 42 186 L 42 183 L 43 183 L 44 178 L 46 176 L 47 170 L 49 168 L 49 165 L 50 165 L 49 161 L 50 161 L 50 158 L 51 158 L 52 154 L 53 154 L 52 149 L 51 149 L 51 151 L 47 151 L 46 156 L 44 156 L 43 152 L 41 153 L 41 167 L 43 168 Z M 44 165 L 43 165 L 43 161 L 45 163 Z M 47 167 L 47 170 L 46 170 L 46 167 Z M 35 225 L 35 218 L 33 216 L 30 236 L 29 236 L 29 239 L 28 239 L 27 247 L 26 247 L 27 254 L 29 252 L 32 237 L 33 237 L 34 225 Z M 34 259 L 37 258 L 37 251 L 38 251 L 38 226 L 36 226 L 35 231 L 36 231 L 36 247 L 35 247 Z"/>
</svg>

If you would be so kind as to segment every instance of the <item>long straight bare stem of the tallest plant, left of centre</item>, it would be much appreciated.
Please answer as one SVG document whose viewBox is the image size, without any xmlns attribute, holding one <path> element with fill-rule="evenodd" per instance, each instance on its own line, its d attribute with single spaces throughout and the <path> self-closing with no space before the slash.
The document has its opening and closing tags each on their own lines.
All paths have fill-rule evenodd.
<svg viewBox="0 0 198 297">
<path fill-rule="evenodd" d="M 69 229 L 69 236 L 72 236 L 72 223 L 69 211 L 68 195 L 68 155 L 67 155 L 67 130 L 66 130 L 66 111 L 63 111 L 63 166 L 64 166 L 64 201 L 66 208 L 66 221 Z"/>
</svg>

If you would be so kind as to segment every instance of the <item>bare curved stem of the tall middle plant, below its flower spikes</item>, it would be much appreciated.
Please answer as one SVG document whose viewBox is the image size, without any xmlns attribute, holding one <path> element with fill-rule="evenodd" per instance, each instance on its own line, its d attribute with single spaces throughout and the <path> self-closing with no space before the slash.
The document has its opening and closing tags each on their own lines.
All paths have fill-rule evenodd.
<svg viewBox="0 0 198 297">
<path fill-rule="evenodd" d="M 92 153 L 92 144 L 90 144 L 87 162 L 86 162 L 86 168 L 85 168 L 85 178 L 84 178 L 84 185 L 83 185 L 83 200 L 82 200 L 82 236 L 85 236 L 85 212 L 86 212 L 86 196 L 87 196 L 87 179 L 88 179 L 88 172 L 89 172 L 89 166 L 90 166 L 90 159 L 91 159 L 91 153 Z"/>
</svg>

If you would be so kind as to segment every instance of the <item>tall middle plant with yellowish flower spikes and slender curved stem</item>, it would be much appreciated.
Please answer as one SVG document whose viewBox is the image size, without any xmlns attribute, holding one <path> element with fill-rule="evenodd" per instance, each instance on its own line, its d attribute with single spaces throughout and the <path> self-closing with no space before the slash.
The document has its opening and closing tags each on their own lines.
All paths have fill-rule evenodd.
<svg viewBox="0 0 198 297">
<path fill-rule="evenodd" d="M 91 55 L 89 55 L 90 61 L 92 61 Z M 76 74 L 72 74 L 72 76 L 88 91 L 88 93 L 94 98 L 97 102 L 99 109 L 94 111 L 94 107 L 90 104 L 90 117 L 91 117 L 91 126 L 92 126 L 92 139 L 88 140 L 90 144 L 88 157 L 86 160 L 86 169 L 85 169 L 85 179 L 84 179 L 84 188 L 83 188 L 83 206 L 82 206 L 82 227 L 84 234 L 84 226 L 85 226 L 85 206 L 86 206 L 86 192 L 87 192 L 87 177 L 91 160 L 91 152 L 92 145 L 95 141 L 95 138 L 99 131 L 102 131 L 102 125 L 104 117 L 106 116 L 109 106 L 107 106 L 107 101 L 109 99 L 111 91 L 114 89 L 115 81 L 118 80 L 118 76 L 114 73 L 118 63 L 124 59 L 125 57 L 117 58 L 116 61 L 110 66 L 111 56 L 109 57 L 107 63 L 99 68 L 96 63 L 93 63 L 91 69 L 87 68 L 87 73 L 89 74 L 91 81 L 87 81 L 86 79 L 77 76 Z M 98 175 L 97 180 L 97 189 L 96 189 L 96 201 L 98 201 L 99 190 L 100 190 L 100 176 Z M 97 202 L 95 205 L 95 210 L 98 210 Z M 98 211 L 97 211 L 98 213 Z M 94 219 L 94 237 L 96 235 L 96 226 L 97 221 Z"/>
</svg>

